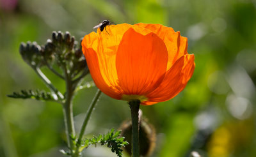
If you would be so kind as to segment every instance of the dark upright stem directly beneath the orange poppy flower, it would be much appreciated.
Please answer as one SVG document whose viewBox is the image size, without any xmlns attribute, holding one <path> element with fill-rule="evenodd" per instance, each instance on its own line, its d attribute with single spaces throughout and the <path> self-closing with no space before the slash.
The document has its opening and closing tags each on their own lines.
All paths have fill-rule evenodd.
<svg viewBox="0 0 256 157">
<path fill-rule="evenodd" d="M 140 100 L 129 101 L 132 116 L 132 157 L 140 156 L 139 144 L 139 109 Z"/>
</svg>

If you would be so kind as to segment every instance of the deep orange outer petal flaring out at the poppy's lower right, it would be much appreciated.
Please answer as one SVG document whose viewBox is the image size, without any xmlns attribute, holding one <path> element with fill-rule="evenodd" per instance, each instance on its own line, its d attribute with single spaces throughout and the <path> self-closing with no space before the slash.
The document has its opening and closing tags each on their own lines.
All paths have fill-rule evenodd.
<svg viewBox="0 0 256 157">
<path fill-rule="evenodd" d="M 180 57 L 172 68 L 166 72 L 165 78 L 159 87 L 147 95 L 148 101 L 143 105 L 152 105 L 157 102 L 167 101 L 180 93 L 192 77 L 195 69 L 194 55 L 187 54 Z"/>
</svg>

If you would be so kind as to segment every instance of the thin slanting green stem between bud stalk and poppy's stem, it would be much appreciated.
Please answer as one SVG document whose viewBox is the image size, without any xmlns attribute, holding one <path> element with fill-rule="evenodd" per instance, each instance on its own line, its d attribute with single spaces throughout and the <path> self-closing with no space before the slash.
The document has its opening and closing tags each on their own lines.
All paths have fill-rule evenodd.
<svg viewBox="0 0 256 157">
<path fill-rule="evenodd" d="M 84 131 L 85 131 L 85 128 L 86 128 L 86 125 L 88 124 L 88 121 L 92 115 L 92 111 L 97 103 L 97 101 L 99 100 L 99 97 L 101 95 L 101 91 L 100 89 L 98 89 L 97 93 L 95 94 L 93 100 L 92 100 L 92 103 L 90 104 L 90 107 L 88 108 L 87 112 L 86 112 L 86 116 L 84 118 L 84 121 L 83 121 L 83 125 L 81 127 L 81 131 L 79 133 L 79 137 L 77 139 L 77 144 L 76 144 L 76 156 L 79 156 L 79 147 L 81 146 L 81 141 L 82 141 L 82 138 L 83 138 L 83 135 L 84 135 Z"/>
</svg>

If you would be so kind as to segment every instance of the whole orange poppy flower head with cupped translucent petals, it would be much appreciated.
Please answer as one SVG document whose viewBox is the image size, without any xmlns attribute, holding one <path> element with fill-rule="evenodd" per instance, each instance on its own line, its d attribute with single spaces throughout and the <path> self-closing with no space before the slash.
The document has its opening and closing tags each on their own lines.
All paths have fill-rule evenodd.
<svg viewBox="0 0 256 157">
<path fill-rule="evenodd" d="M 82 47 L 96 86 L 117 100 L 170 100 L 195 69 L 188 39 L 160 24 L 107 26 L 84 36 Z"/>
</svg>

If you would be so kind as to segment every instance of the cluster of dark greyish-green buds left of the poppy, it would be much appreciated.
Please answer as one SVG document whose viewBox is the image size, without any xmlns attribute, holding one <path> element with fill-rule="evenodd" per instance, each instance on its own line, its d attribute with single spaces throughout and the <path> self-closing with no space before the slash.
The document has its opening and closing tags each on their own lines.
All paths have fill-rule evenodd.
<svg viewBox="0 0 256 157">
<path fill-rule="evenodd" d="M 87 70 L 86 60 L 81 50 L 81 41 L 75 40 L 74 36 L 66 32 L 54 31 L 52 38 L 47 40 L 45 45 L 39 46 L 36 42 L 20 44 L 20 54 L 22 59 L 33 68 L 41 66 L 53 67 L 57 64 L 66 67 L 72 77 L 84 70 Z"/>
</svg>

